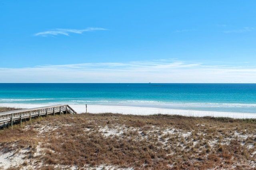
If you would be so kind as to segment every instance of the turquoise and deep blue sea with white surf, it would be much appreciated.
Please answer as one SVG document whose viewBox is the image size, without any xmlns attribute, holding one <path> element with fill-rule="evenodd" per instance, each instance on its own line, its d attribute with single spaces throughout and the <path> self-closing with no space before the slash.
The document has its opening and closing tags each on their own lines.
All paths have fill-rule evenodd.
<svg viewBox="0 0 256 170">
<path fill-rule="evenodd" d="M 0 104 L 88 104 L 256 113 L 256 84 L 0 83 Z"/>
</svg>

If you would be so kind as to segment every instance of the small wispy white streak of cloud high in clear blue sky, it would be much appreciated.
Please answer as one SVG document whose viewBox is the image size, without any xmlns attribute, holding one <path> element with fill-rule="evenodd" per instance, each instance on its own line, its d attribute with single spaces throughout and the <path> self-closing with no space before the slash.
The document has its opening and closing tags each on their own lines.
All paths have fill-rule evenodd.
<svg viewBox="0 0 256 170">
<path fill-rule="evenodd" d="M 98 28 L 98 27 L 89 27 L 87 29 L 54 29 L 51 31 L 43 31 L 39 33 L 35 33 L 34 36 L 43 36 L 47 37 L 48 35 L 66 35 L 69 36 L 70 33 L 77 33 L 77 34 L 82 34 L 83 32 L 88 32 L 88 31 L 96 31 L 96 30 L 107 30 L 105 28 Z"/>
</svg>

